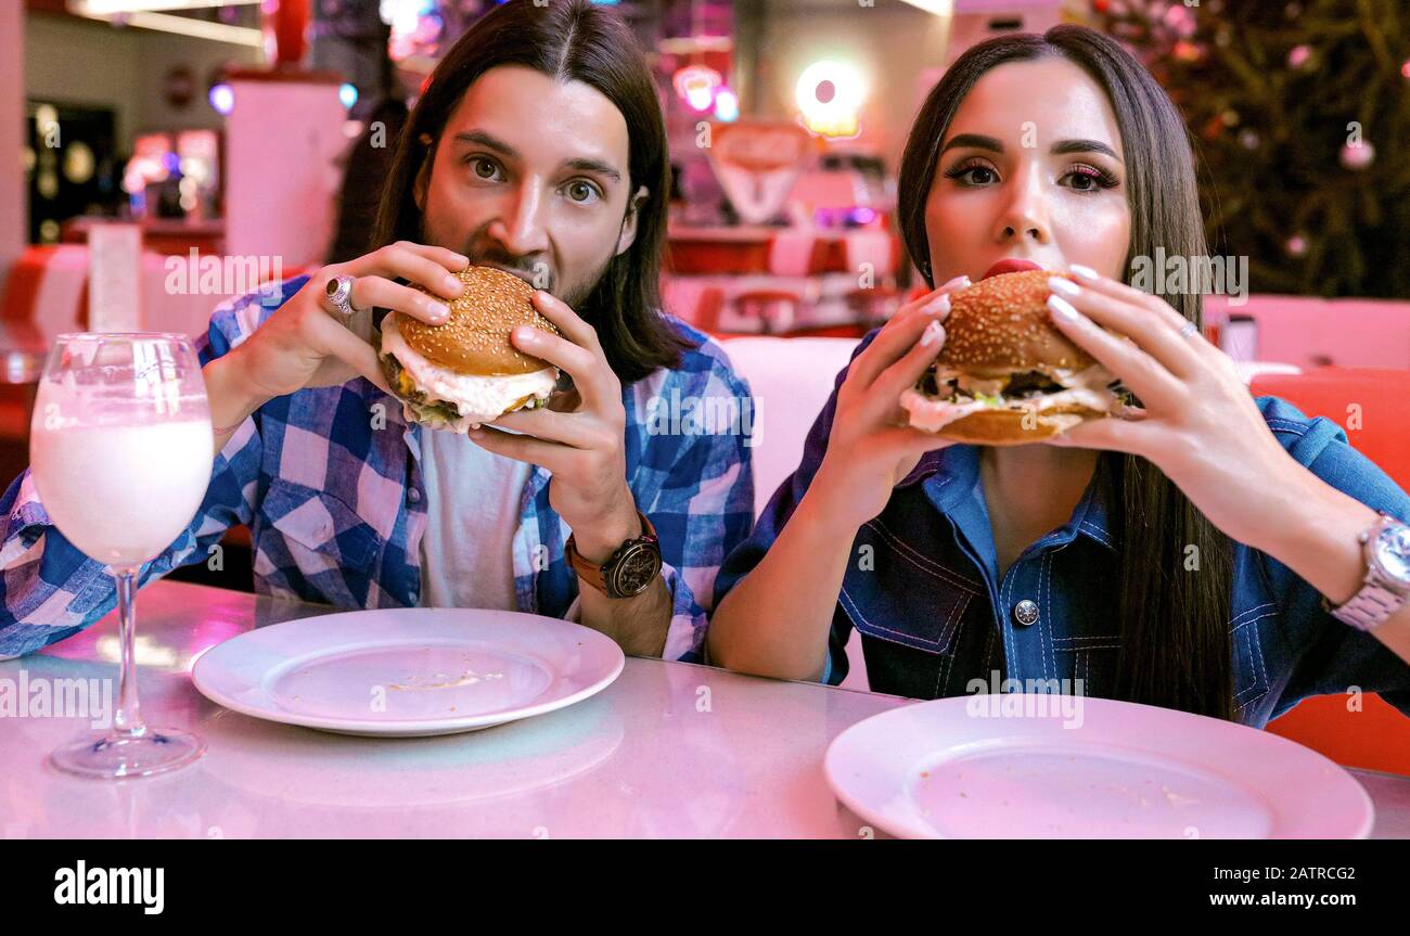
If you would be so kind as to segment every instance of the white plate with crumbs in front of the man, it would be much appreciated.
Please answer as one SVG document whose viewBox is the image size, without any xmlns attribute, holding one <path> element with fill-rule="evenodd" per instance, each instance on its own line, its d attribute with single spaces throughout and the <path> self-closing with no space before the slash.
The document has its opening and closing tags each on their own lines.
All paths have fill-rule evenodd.
<svg viewBox="0 0 1410 936">
<path fill-rule="evenodd" d="M 557 617 L 399 608 L 250 630 L 202 654 L 192 681 L 243 715 L 413 737 L 561 709 L 605 689 L 625 664 L 611 637 Z"/>
</svg>

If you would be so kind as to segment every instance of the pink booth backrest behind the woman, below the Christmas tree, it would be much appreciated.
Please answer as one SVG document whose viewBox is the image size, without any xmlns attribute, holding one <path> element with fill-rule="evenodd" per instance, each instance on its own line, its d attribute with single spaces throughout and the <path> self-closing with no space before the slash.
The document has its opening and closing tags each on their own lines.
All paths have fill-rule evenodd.
<svg viewBox="0 0 1410 936">
<path fill-rule="evenodd" d="M 1410 302 L 1256 295 L 1235 306 L 1227 296 L 1208 296 L 1206 314 L 1215 323 L 1228 316 L 1252 317 L 1258 323 L 1253 357 L 1259 361 L 1303 369 L 1328 364 L 1410 368 Z"/>
</svg>

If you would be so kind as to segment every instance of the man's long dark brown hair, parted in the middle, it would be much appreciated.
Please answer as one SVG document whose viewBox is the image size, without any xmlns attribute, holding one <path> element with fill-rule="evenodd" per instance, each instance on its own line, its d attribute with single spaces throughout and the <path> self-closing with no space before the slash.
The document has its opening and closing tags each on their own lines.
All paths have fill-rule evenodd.
<svg viewBox="0 0 1410 936">
<path fill-rule="evenodd" d="M 436 144 L 465 89 L 499 65 L 522 65 L 560 82 L 589 85 L 626 118 L 629 189 L 634 193 L 646 186 L 649 195 L 637 207 L 632 247 L 612 258 L 575 312 L 596 328 L 608 364 L 623 385 L 657 368 L 678 367 L 681 352 L 694 345 L 661 316 L 660 271 L 671 179 L 666 123 L 630 28 L 588 0 L 554 0 L 543 7 L 510 0 L 485 14 L 451 47 L 402 133 L 382 192 L 374 245 L 420 240 L 416 175 L 423 162 L 434 161 Z"/>
</svg>

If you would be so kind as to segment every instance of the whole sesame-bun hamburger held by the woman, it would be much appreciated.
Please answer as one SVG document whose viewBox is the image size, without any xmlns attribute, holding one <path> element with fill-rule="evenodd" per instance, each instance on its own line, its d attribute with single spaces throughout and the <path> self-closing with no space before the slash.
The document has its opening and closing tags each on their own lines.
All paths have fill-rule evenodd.
<svg viewBox="0 0 1410 936">
<path fill-rule="evenodd" d="M 1048 317 L 1050 272 L 1000 272 L 950 293 L 945 345 L 901 395 L 909 424 L 977 445 L 1022 445 L 1120 412 L 1117 378 Z M 1014 261 L 995 269 L 1014 266 Z"/>
</svg>

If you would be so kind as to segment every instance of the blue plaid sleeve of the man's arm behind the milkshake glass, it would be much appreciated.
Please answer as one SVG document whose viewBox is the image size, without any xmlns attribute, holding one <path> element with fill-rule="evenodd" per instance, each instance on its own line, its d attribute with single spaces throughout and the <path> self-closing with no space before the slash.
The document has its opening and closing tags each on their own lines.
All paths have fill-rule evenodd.
<svg viewBox="0 0 1410 936">
<path fill-rule="evenodd" d="M 282 297 L 292 289 L 285 283 Z M 261 304 L 259 293 L 219 306 L 209 330 L 196 340 L 200 362 L 240 344 L 271 312 Z M 190 526 L 142 567 L 138 585 L 206 560 L 227 527 L 251 520 L 259 460 L 259 429 L 251 417 L 216 455 L 210 486 Z M 20 657 L 78 633 L 116 605 L 113 577 L 54 527 L 34 476 L 25 469 L 0 498 L 0 658 Z"/>
</svg>

